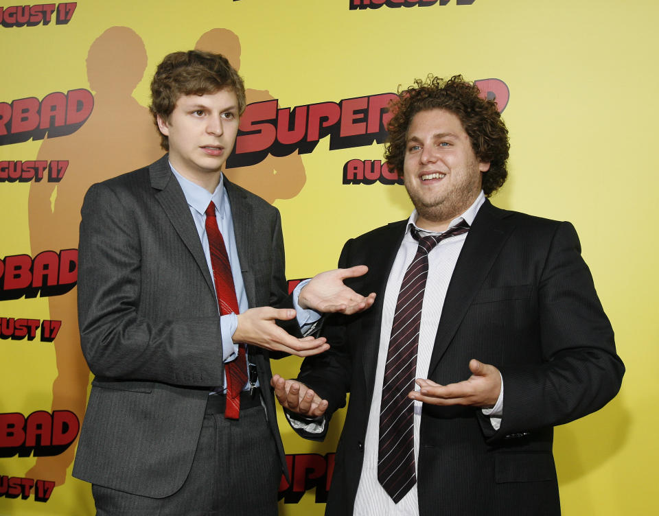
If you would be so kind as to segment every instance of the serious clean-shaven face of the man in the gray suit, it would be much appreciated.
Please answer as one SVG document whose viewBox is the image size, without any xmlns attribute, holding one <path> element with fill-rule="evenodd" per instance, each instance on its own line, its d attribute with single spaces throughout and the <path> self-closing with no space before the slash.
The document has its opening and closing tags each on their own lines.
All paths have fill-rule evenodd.
<svg viewBox="0 0 659 516">
<path fill-rule="evenodd" d="M 176 171 L 214 189 L 238 132 L 238 99 L 230 89 L 183 95 L 167 121 L 158 117 L 158 127 L 169 139 Z"/>
</svg>

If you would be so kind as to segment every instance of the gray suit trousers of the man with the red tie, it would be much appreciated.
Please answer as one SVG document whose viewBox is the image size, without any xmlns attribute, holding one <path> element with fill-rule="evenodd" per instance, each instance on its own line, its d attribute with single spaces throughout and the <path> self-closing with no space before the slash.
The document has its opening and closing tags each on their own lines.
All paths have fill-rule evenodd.
<svg viewBox="0 0 659 516">
<path fill-rule="evenodd" d="M 189 476 L 181 489 L 150 498 L 93 485 L 97 516 L 275 516 L 281 464 L 262 406 L 225 419 L 209 397 Z"/>
</svg>

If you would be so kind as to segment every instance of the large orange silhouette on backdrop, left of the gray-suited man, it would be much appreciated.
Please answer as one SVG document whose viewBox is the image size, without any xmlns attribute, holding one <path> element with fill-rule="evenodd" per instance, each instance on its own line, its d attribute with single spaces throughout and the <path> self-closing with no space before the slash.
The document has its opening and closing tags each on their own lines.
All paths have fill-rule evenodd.
<svg viewBox="0 0 659 516">
<path fill-rule="evenodd" d="M 128 27 L 111 27 L 89 47 L 86 67 L 95 93 L 84 125 L 66 137 L 45 139 L 37 159 L 68 160 L 60 183 L 32 183 L 28 201 L 32 255 L 42 250 L 78 248 L 80 207 L 93 183 L 148 165 L 162 156 L 152 117 L 132 97 L 143 78 L 147 55 L 141 38 Z M 54 340 L 58 376 L 52 410 L 71 410 L 82 423 L 89 368 L 80 350 L 77 289 L 48 299 L 50 318 L 61 320 Z M 77 442 L 77 441 L 76 441 Z M 28 478 L 65 482 L 76 443 L 58 456 L 39 457 Z"/>
</svg>

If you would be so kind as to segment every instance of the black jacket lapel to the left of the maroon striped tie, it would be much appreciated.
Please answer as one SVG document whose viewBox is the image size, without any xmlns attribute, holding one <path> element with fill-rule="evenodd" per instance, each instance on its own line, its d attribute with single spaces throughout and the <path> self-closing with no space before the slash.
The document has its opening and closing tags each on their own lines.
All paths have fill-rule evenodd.
<svg viewBox="0 0 659 516">
<path fill-rule="evenodd" d="M 378 353 L 380 352 L 380 332 L 382 329 L 382 310 L 384 309 L 384 292 L 386 283 L 389 280 L 389 273 L 396 259 L 398 249 L 405 235 L 407 220 L 392 222 L 386 226 L 386 231 L 380 238 L 379 242 L 373 249 L 369 250 L 369 289 L 365 294 L 375 292 L 375 303 L 371 310 L 365 314 L 365 320 L 362 321 L 362 327 L 368 328 L 367 339 L 364 342 L 364 376 L 366 385 L 370 392 L 369 397 L 373 396 L 373 386 L 375 384 L 375 368 L 378 366 Z M 386 250 L 386 251 L 385 251 Z M 386 254 L 389 253 L 389 254 Z M 356 265 L 356 264 L 355 264 Z"/>
</svg>

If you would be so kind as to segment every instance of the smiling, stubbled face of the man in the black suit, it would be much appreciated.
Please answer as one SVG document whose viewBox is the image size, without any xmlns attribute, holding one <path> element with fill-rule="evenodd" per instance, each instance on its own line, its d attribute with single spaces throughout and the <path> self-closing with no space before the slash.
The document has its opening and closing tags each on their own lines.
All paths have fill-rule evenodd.
<svg viewBox="0 0 659 516">
<path fill-rule="evenodd" d="M 489 163 L 478 161 L 456 115 L 444 109 L 420 111 L 407 132 L 403 177 L 419 213 L 417 225 L 443 231 L 469 208 L 481 191 Z"/>
</svg>

